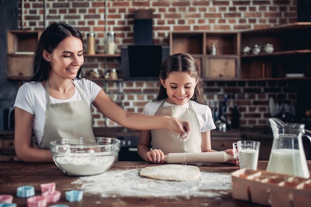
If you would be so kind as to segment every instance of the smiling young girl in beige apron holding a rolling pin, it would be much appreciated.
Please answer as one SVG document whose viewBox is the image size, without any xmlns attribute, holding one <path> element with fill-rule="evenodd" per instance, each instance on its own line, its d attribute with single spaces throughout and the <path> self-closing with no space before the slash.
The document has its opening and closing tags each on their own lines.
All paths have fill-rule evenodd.
<svg viewBox="0 0 311 207">
<path fill-rule="evenodd" d="M 141 131 L 138 154 L 146 161 L 162 163 L 168 153 L 215 152 L 211 130 L 215 129 L 212 111 L 203 104 L 203 81 L 194 58 L 187 53 L 166 58 L 160 70 L 160 90 L 155 100 L 144 107 L 148 115 L 167 115 L 191 122 L 191 134 L 185 142 L 166 129 Z M 150 150 L 151 147 L 153 150 Z M 233 155 L 233 150 L 225 152 Z M 230 161 L 237 164 L 237 161 Z"/>
</svg>

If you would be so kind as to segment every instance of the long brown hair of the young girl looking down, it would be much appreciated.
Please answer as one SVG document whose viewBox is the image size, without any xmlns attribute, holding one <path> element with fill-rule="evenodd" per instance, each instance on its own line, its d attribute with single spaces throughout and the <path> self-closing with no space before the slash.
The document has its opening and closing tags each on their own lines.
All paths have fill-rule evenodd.
<svg viewBox="0 0 311 207">
<path fill-rule="evenodd" d="M 188 53 L 177 53 L 167 57 L 162 63 L 159 77 L 165 80 L 172 71 L 188 72 L 192 78 L 197 79 L 197 85 L 194 89 L 192 100 L 204 104 L 202 92 L 203 80 L 200 76 L 200 69 L 194 58 Z M 159 93 L 153 101 L 159 101 L 167 98 L 166 89 L 160 86 Z"/>
</svg>

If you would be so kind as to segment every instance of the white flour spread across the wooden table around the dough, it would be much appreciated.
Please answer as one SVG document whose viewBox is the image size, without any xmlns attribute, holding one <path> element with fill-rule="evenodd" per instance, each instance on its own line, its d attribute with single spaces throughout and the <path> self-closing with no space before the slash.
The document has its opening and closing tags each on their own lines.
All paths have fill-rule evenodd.
<svg viewBox="0 0 311 207">
<path fill-rule="evenodd" d="M 232 189 L 230 174 L 201 172 L 200 178 L 193 181 L 178 182 L 141 177 L 140 169 L 112 170 L 102 174 L 81 177 L 73 184 L 89 194 L 100 194 L 102 198 L 115 196 L 209 197 L 228 194 Z"/>
</svg>

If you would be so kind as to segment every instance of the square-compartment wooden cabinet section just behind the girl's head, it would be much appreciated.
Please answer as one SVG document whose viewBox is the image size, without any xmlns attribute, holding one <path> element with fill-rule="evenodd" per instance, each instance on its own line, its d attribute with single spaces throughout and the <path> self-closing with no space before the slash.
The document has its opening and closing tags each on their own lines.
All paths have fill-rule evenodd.
<svg viewBox="0 0 311 207">
<path fill-rule="evenodd" d="M 239 67 L 237 32 L 170 32 L 170 54 L 191 54 L 204 80 L 236 79 Z M 212 46 L 216 47 L 212 54 Z"/>
</svg>

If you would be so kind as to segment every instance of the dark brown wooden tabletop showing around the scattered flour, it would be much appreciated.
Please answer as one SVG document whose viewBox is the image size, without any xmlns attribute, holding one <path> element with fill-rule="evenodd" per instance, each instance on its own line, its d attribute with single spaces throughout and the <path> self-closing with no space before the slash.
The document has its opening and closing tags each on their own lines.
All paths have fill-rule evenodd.
<svg viewBox="0 0 311 207">
<path fill-rule="evenodd" d="M 267 161 L 259 161 L 258 169 L 265 170 Z M 116 162 L 109 170 L 136 169 L 146 166 L 155 166 L 149 162 Z M 198 163 L 196 164 L 202 172 L 232 173 L 238 166 L 227 163 Z M 311 160 L 308 160 L 311 169 Z M 35 188 L 36 196 L 41 195 L 40 184 L 56 183 L 56 190 L 62 193 L 58 203 L 66 204 L 70 207 L 262 207 L 245 201 L 233 200 L 231 190 L 228 194 L 215 198 L 206 197 L 180 197 L 157 198 L 157 197 L 108 197 L 102 198 L 100 195 L 84 193 L 80 202 L 67 202 L 65 192 L 77 189 L 72 182 L 79 177 L 69 176 L 63 173 L 54 163 L 25 163 L 19 161 L 0 161 L 0 194 L 10 194 L 14 196 L 13 203 L 18 207 L 27 207 L 26 198 L 16 197 L 16 189 L 22 185 L 32 185 Z M 99 181 L 100 182 L 100 181 Z M 168 182 L 168 181 L 167 181 Z M 122 188 L 122 186 L 120 186 Z"/>
</svg>

